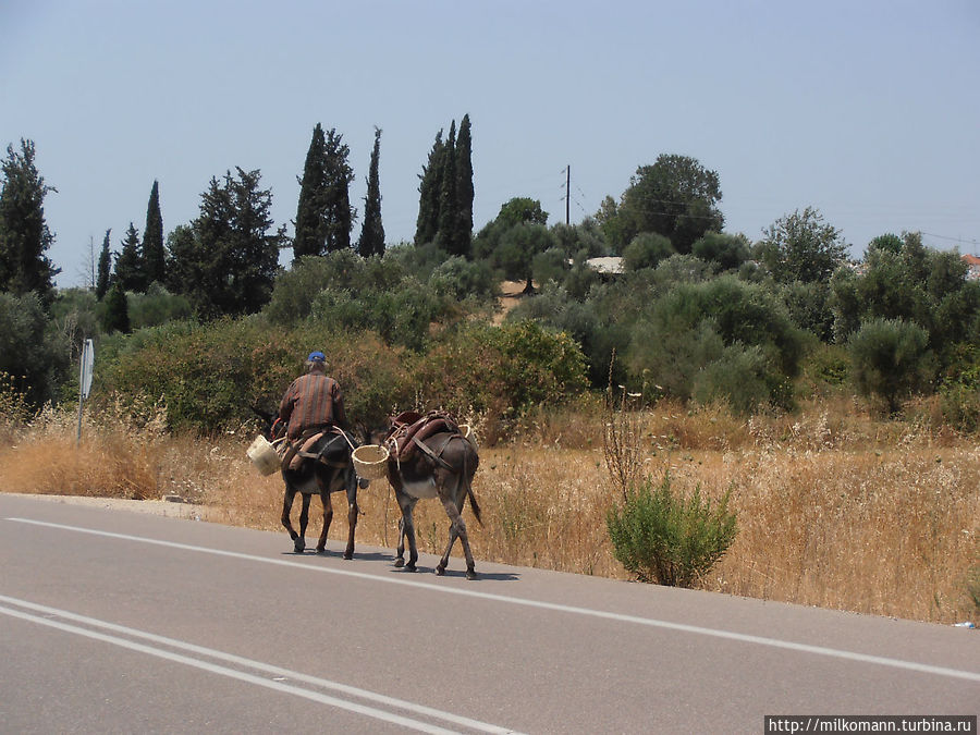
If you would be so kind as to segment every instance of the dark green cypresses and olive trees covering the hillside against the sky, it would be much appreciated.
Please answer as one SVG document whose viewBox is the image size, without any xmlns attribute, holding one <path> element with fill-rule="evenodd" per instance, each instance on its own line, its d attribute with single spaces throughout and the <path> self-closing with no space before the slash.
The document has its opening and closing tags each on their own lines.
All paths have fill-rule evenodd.
<svg viewBox="0 0 980 735">
<path fill-rule="evenodd" d="M 45 255 L 53 235 L 42 203 L 52 189 L 22 140 L 3 163 L 0 307 L 13 314 L 23 304 L 11 298 L 34 298 L 36 308 L 21 308 L 34 321 L 21 327 L 36 332 L 60 318 L 61 335 L 74 341 L 83 331 L 260 315 L 281 328 L 329 320 L 419 352 L 439 339 L 431 324 L 489 315 L 500 280 L 510 279 L 528 298 L 509 319 L 572 335 L 596 388 L 612 377 L 647 400 L 792 409 L 801 373 L 816 371 L 892 413 L 916 391 L 955 394 L 951 415 L 965 427 L 980 421 L 980 284 L 957 253 L 927 248 L 918 233 L 882 234 L 849 262 L 843 233 L 804 207 L 752 242 L 725 231 L 718 173 L 677 155 L 638 167 L 617 198 L 578 224 L 549 225 L 540 201 L 516 196 L 475 231 L 464 115 L 436 134 L 421 167 L 413 242 L 387 244 L 380 140 L 376 128 L 356 241 L 350 150 L 317 124 L 292 238 L 272 221 L 260 172 L 235 168 L 211 179 L 198 217 L 164 241 L 154 182 L 142 237 L 131 222 L 113 254 L 107 230 L 93 287 L 71 297 L 56 295 L 58 271 Z M 286 245 L 294 260 L 283 270 Z M 597 270 L 590 261 L 603 256 L 617 256 L 621 272 Z M 96 305 L 69 319 L 72 298 Z M 15 362 L 0 371 L 26 375 Z M 34 383 L 48 390 L 30 388 L 36 397 L 51 394 L 41 372 Z"/>
</svg>

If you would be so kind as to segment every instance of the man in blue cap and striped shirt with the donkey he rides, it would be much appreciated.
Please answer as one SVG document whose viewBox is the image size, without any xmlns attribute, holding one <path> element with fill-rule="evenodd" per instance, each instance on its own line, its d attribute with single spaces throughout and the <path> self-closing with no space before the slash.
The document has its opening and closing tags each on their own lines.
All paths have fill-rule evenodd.
<svg viewBox="0 0 980 735">
<path fill-rule="evenodd" d="M 306 359 L 306 375 L 294 380 L 279 404 L 279 425 L 285 428 L 286 449 L 282 458 L 282 475 L 286 485 L 282 509 L 282 525 L 293 539 L 295 551 L 302 552 L 308 519 L 309 499 L 319 494 L 323 501 L 323 530 L 317 543 L 322 552 L 327 531 L 333 517 L 330 493 L 343 491 L 347 495 L 347 546 L 344 558 L 354 554 L 354 528 L 357 525 L 357 477 L 351 460 L 356 440 L 347 430 L 344 395 L 340 384 L 327 375 L 327 357 L 311 352 Z M 275 429 L 273 429 L 274 431 Z M 293 530 L 290 511 L 296 492 L 303 497 L 299 532 Z"/>
</svg>

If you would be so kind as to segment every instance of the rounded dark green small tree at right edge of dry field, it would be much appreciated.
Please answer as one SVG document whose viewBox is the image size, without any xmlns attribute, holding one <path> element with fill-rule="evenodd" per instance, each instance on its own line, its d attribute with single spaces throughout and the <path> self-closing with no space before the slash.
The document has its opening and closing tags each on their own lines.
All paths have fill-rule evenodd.
<svg viewBox="0 0 980 735">
<path fill-rule="evenodd" d="M 853 378 L 861 395 L 889 414 L 922 387 L 931 372 L 926 330 L 903 319 L 872 319 L 850 338 Z"/>
</svg>

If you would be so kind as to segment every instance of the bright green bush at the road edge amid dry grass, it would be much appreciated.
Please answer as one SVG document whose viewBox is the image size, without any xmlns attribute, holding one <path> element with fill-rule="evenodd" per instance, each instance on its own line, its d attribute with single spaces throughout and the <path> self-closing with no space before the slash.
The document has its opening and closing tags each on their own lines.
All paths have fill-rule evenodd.
<svg viewBox="0 0 980 735">
<path fill-rule="evenodd" d="M 728 550 L 737 532 L 728 497 L 712 506 L 700 487 L 686 500 L 671 489 L 670 475 L 653 488 L 647 476 L 622 507 L 605 517 L 616 560 L 640 581 L 691 587 Z"/>
</svg>

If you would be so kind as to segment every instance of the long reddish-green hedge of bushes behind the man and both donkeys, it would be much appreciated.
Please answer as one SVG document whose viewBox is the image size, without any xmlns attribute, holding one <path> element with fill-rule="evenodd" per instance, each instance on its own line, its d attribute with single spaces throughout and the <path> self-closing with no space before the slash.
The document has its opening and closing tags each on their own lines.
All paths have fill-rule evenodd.
<svg viewBox="0 0 980 735">
<path fill-rule="evenodd" d="M 402 309 L 404 311 L 405 309 Z M 344 392 L 348 419 L 368 429 L 407 408 L 443 407 L 489 419 L 559 403 L 586 388 L 581 351 L 565 333 L 524 322 L 473 322 L 427 353 L 390 346 L 372 331 L 308 319 L 293 329 L 258 317 L 139 330 L 102 341 L 94 400 L 162 401 L 172 429 L 212 433 L 274 411 L 311 350 Z"/>
</svg>

